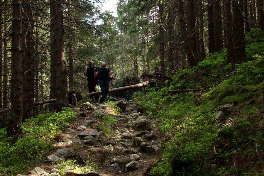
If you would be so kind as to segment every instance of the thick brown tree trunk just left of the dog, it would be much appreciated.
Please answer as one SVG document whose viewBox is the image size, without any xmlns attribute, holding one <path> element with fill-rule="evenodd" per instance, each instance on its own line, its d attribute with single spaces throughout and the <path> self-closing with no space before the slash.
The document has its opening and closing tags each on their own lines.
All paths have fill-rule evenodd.
<svg viewBox="0 0 264 176">
<path fill-rule="evenodd" d="M 62 107 L 69 105 L 68 91 L 67 91 L 67 75 L 66 75 L 66 62 L 65 62 L 65 49 L 64 49 L 64 25 L 63 25 L 63 9 L 62 0 L 51 0 L 51 6 L 54 6 L 54 13 L 51 14 L 54 20 L 53 33 L 55 36 L 54 57 L 56 60 L 56 110 L 60 111 Z"/>
</svg>

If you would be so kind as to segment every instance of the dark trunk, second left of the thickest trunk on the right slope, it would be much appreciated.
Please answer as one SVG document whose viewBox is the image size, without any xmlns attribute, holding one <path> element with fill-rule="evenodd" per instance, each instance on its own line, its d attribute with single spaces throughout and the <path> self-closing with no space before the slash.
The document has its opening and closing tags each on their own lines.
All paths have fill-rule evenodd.
<svg viewBox="0 0 264 176">
<path fill-rule="evenodd" d="M 214 1 L 214 37 L 216 51 L 220 51 L 223 48 L 223 31 L 222 31 L 222 19 L 221 19 L 221 5 L 220 0 Z"/>
</svg>

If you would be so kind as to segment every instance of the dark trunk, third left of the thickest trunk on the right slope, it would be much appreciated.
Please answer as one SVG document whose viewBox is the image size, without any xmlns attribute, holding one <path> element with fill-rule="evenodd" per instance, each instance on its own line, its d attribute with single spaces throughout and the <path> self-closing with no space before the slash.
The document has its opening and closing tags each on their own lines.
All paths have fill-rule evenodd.
<svg viewBox="0 0 264 176">
<path fill-rule="evenodd" d="M 214 36 L 214 6 L 213 0 L 208 0 L 208 52 L 216 52 Z"/>
</svg>

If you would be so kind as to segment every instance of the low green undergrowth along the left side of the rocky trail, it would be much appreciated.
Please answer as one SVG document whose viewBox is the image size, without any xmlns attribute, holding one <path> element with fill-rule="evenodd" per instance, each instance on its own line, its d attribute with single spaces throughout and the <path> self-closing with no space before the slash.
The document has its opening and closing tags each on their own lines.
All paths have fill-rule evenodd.
<svg viewBox="0 0 264 176">
<path fill-rule="evenodd" d="M 25 120 L 23 136 L 14 144 L 5 137 L 6 130 L 0 129 L 1 176 L 27 172 L 45 159 L 45 154 L 52 148 L 53 137 L 76 120 L 76 113 L 71 108 L 62 110 Z"/>
</svg>

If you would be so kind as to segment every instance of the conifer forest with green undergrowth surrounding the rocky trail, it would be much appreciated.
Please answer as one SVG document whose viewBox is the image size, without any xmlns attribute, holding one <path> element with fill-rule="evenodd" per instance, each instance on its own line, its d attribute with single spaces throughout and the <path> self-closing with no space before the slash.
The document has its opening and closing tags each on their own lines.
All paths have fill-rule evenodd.
<svg viewBox="0 0 264 176">
<path fill-rule="evenodd" d="M 142 175 L 263 175 L 263 0 L 119 0 L 117 17 L 100 3 L 0 0 L 1 176 L 43 160 L 75 119 L 72 92 L 90 101 L 89 60 L 116 74 L 112 88 L 149 82 L 111 94 L 164 135 Z M 43 118 L 58 120 L 45 131 Z"/>
</svg>

